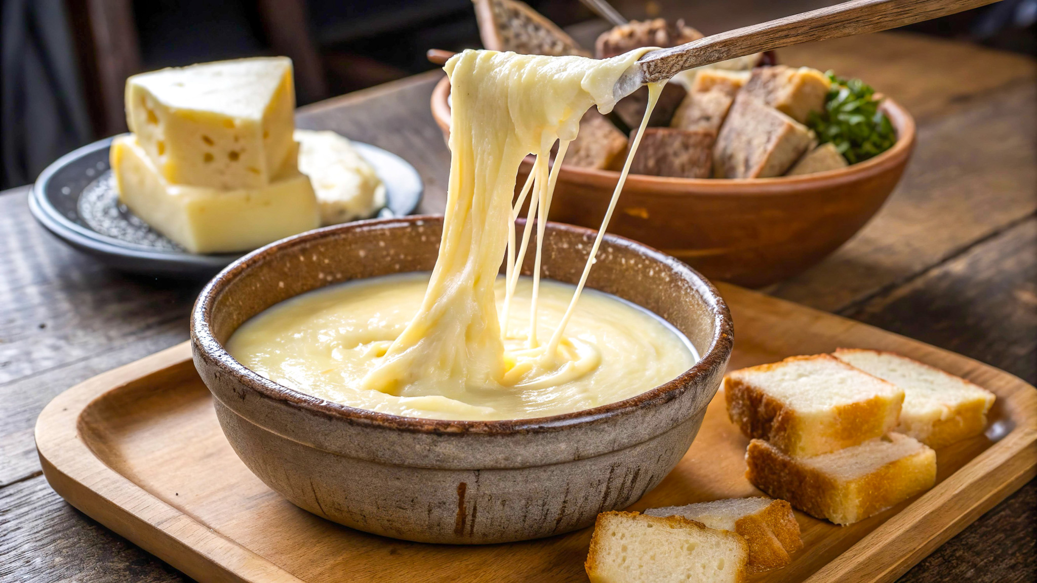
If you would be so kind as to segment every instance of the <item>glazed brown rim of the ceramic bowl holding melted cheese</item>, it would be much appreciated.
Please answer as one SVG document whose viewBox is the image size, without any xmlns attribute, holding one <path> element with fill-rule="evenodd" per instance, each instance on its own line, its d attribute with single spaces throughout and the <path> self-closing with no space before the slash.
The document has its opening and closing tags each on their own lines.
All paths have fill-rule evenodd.
<svg viewBox="0 0 1037 583">
<path fill-rule="evenodd" d="M 701 296 L 703 304 L 711 314 L 713 334 L 709 339 L 706 350 L 700 354 L 699 360 L 676 378 L 629 398 L 592 409 L 546 417 L 500 420 L 426 419 L 369 411 L 317 398 L 261 377 L 230 356 L 223 342 L 220 342 L 213 334 L 209 320 L 213 307 L 222 297 L 222 294 L 235 278 L 253 268 L 260 267 L 273 255 L 291 252 L 298 247 L 306 246 L 323 238 L 333 237 L 343 230 L 408 226 L 413 228 L 414 226 L 422 226 L 427 222 L 442 223 L 442 215 L 412 215 L 401 218 L 370 219 L 332 225 L 271 243 L 235 259 L 205 284 L 191 310 L 191 344 L 196 354 L 196 362 L 200 356 L 204 360 L 215 363 L 216 366 L 230 373 L 236 381 L 259 395 L 268 399 L 280 401 L 295 409 L 302 409 L 326 418 L 339 419 L 356 425 L 437 435 L 488 434 L 504 436 L 549 433 L 573 426 L 595 424 L 607 419 L 632 414 L 647 407 L 670 401 L 686 390 L 699 385 L 700 381 L 705 381 L 708 377 L 716 374 L 718 368 L 723 372 L 723 368 L 726 366 L 733 348 L 733 324 L 730 310 L 716 286 L 679 259 L 642 243 L 609 233 L 606 233 L 605 241 L 611 245 L 634 249 L 643 256 L 655 259 L 670 268 L 676 272 L 678 277 L 688 281 L 693 289 Z M 597 232 L 594 229 L 556 222 L 549 222 L 548 228 L 549 230 L 569 231 L 584 237 L 593 237 Z M 314 287 L 314 289 L 317 289 L 317 287 Z"/>
</svg>

